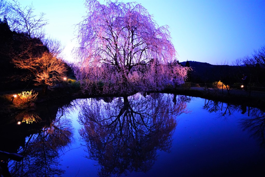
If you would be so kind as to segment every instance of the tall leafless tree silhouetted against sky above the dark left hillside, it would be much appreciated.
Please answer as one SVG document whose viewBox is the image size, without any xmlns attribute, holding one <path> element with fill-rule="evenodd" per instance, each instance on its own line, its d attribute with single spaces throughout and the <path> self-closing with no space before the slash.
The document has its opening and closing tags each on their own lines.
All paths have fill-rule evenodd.
<svg viewBox="0 0 265 177">
<path fill-rule="evenodd" d="M 14 18 L 10 19 L 10 28 L 17 32 L 27 33 L 30 38 L 43 38 L 43 26 L 48 24 L 47 19 L 44 18 L 44 13 L 41 12 L 39 16 L 34 15 L 33 5 L 21 7 L 20 3 L 13 0 L 10 3 L 10 8 L 14 14 Z"/>
</svg>

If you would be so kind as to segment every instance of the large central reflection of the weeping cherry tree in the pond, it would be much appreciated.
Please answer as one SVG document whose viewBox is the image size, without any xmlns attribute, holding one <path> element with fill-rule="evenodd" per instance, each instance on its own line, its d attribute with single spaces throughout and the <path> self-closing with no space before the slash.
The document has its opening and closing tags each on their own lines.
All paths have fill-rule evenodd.
<svg viewBox="0 0 265 177">
<path fill-rule="evenodd" d="M 99 176 L 148 171 L 156 151 L 169 152 L 177 125 L 175 116 L 187 112 L 186 103 L 173 95 L 135 94 L 111 103 L 95 99 L 82 103 L 79 121 L 88 158 L 102 167 Z"/>
</svg>

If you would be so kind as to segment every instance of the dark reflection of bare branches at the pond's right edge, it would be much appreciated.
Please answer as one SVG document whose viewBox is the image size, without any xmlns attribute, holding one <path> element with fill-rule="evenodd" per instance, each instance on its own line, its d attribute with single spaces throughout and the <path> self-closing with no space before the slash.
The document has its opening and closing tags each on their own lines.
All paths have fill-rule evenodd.
<svg viewBox="0 0 265 177">
<path fill-rule="evenodd" d="M 265 148 L 265 113 L 258 108 L 251 108 L 250 118 L 241 119 L 244 130 L 252 133 L 260 141 L 260 146 Z"/>
</svg>

